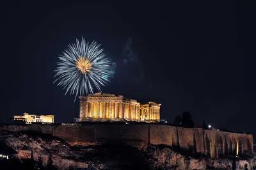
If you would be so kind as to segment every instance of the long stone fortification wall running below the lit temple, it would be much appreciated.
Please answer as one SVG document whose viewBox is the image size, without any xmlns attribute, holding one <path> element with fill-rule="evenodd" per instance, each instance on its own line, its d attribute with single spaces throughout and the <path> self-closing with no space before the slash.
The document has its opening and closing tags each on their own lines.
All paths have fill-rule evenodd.
<svg viewBox="0 0 256 170">
<path fill-rule="evenodd" d="M 92 125 L 3 125 L 0 130 L 12 132 L 35 131 L 52 134 L 71 145 L 102 144 L 120 141 L 133 146 L 163 144 L 184 150 L 205 153 L 210 157 L 239 153 L 253 153 L 253 137 L 202 128 L 182 128 L 169 125 L 145 124 L 92 124 Z"/>
</svg>

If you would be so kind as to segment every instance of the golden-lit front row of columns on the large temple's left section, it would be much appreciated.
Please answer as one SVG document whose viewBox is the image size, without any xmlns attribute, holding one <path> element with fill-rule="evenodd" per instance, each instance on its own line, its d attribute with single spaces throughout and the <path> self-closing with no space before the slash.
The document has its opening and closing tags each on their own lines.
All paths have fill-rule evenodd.
<svg viewBox="0 0 256 170">
<path fill-rule="evenodd" d="M 140 119 L 140 105 L 120 102 L 83 102 L 80 111 L 81 120 L 88 118 L 125 118 Z"/>
</svg>

